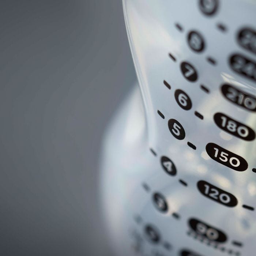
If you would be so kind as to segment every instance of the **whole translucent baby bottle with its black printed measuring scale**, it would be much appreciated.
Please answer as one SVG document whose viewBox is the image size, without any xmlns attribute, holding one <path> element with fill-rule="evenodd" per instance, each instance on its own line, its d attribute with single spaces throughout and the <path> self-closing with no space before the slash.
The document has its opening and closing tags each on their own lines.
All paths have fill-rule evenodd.
<svg viewBox="0 0 256 256">
<path fill-rule="evenodd" d="M 123 5 L 139 86 L 102 150 L 116 255 L 256 255 L 256 1 Z"/>
</svg>

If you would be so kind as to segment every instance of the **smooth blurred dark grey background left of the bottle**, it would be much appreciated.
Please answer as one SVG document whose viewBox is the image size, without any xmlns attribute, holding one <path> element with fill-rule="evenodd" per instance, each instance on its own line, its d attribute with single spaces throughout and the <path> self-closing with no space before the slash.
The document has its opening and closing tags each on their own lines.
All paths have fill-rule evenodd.
<svg viewBox="0 0 256 256">
<path fill-rule="evenodd" d="M 1 0 L 0 31 L 0 255 L 111 255 L 98 154 L 136 79 L 121 0 Z"/>
</svg>

